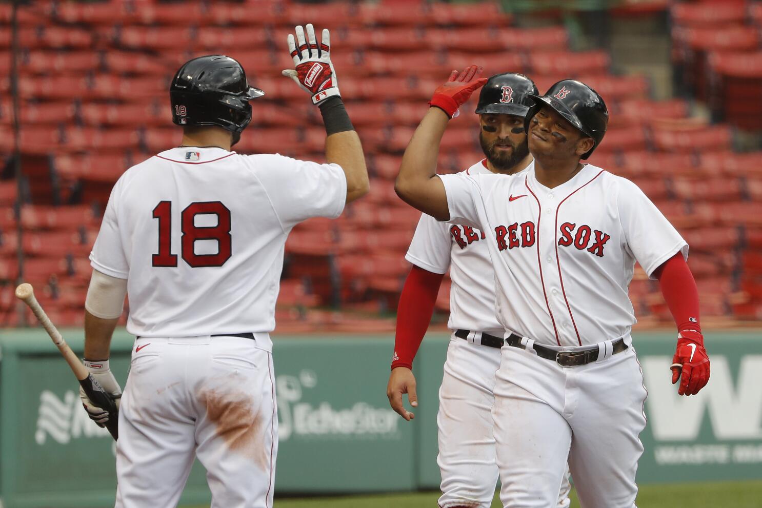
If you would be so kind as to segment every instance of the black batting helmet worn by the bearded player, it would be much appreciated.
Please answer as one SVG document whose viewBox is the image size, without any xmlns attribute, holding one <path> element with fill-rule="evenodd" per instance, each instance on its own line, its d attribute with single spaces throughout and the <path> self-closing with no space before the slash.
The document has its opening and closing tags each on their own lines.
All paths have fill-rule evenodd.
<svg viewBox="0 0 762 508">
<path fill-rule="evenodd" d="M 479 93 L 475 113 L 498 113 L 523 117 L 534 104 L 531 94 L 539 95 L 537 86 L 523 74 L 506 72 L 489 78 Z"/>
</svg>

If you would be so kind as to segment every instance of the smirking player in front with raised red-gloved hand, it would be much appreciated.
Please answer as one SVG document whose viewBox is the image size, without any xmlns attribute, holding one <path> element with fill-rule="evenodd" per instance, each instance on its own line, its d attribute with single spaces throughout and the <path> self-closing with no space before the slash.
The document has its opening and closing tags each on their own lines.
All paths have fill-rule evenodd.
<svg viewBox="0 0 762 508">
<path fill-rule="evenodd" d="M 484 83 L 478 70 L 451 76 L 432 104 L 463 104 Z M 431 107 L 396 190 L 437 219 L 487 232 L 504 339 L 492 408 L 503 505 L 553 506 L 568 458 L 581 506 L 632 508 L 646 391 L 627 286 L 636 261 L 659 280 L 678 331 L 672 382 L 698 393 L 709 358 L 687 244 L 635 184 L 581 163 L 606 132 L 600 95 L 564 80 L 531 99 L 526 174 L 437 176 L 418 154 L 450 115 Z"/>
</svg>

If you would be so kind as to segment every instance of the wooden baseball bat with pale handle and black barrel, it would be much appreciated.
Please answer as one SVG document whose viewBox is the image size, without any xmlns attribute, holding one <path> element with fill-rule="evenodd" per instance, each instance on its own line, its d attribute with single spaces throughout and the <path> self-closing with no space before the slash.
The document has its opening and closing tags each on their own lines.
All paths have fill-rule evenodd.
<svg viewBox="0 0 762 508">
<path fill-rule="evenodd" d="M 74 351 L 69 347 L 69 344 L 66 343 L 66 340 L 63 340 L 63 337 L 56 329 L 56 326 L 45 314 L 40 302 L 37 302 L 37 299 L 34 298 L 34 288 L 32 285 L 29 283 L 19 284 L 16 288 L 16 298 L 20 299 L 32 309 L 35 317 L 37 317 L 37 321 L 40 321 L 40 324 L 43 325 L 47 334 L 50 335 L 50 339 L 53 340 L 53 343 L 56 344 L 56 347 L 58 347 L 58 350 L 61 352 L 63 359 L 66 360 L 66 363 L 69 364 L 72 372 L 74 372 L 79 385 L 81 385 L 82 389 L 85 391 L 85 395 L 87 395 L 97 407 L 101 407 L 105 411 L 108 411 L 106 428 L 116 441 L 119 437 L 117 403 L 114 402 L 114 399 L 106 393 L 100 383 L 98 383 L 91 373 L 88 372 L 88 369 L 85 369 L 85 366 L 79 361 L 77 355 L 74 354 Z"/>
</svg>

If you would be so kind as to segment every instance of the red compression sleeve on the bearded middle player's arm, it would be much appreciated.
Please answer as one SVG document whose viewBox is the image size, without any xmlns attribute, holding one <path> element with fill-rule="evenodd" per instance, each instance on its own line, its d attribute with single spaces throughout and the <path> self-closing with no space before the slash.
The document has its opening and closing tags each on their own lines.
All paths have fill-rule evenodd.
<svg viewBox="0 0 762 508">
<path fill-rule="evenodd" d="M 415 353 L 418 353 L 431 316 L 434 315 L 434 304 L 443 278 L 444 273 L 431 273 L 415 265 L 410 270 L 405 286 L 402 287 L 402 295 L 399 296 L 392 369 L 412 369 Z"/>
</svg>

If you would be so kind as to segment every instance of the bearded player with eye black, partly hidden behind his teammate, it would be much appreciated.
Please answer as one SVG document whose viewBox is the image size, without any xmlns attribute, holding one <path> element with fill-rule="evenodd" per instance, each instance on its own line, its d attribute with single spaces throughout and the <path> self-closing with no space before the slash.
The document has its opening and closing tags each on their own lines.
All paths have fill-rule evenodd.
<svg viewBox="0 0 762 508">
<path fill-rule="evenodd" d="M 534 82 L 521 74 L 498 74 L 487 81 L 475 113 L 479 114 L 479 143 L 485 158 L 465 174 L 523 174 L 532 165 L 524 133 L 524 115 L 537 94 Z M 437 164 L 437 152 L 421 157 Z M 444 273 L 450 269 L 450 321 L 453 331 L 439 392 L 439 463 L 442 497 L 439 506 L 489 508 L 495 497 L 498 466 L 490 410 L 495 402 L 495 371 L 500 366 L 503 327 L 495 318 L 495 276 L 485 233 L 469 226 L 438 222 L 421 215 L 405 259 L 413 268 L 405 280 L 397 314 L 397 334 L 387 395 L 392 408 L 405 420 L 414 414 L 402 405 L 402 394 L 418 404 L 415 353 L 434 313 Z M 568 481 L 562 485 L 558 506 L 568 506 Z"/>
</svg>

